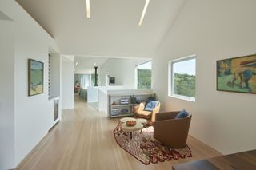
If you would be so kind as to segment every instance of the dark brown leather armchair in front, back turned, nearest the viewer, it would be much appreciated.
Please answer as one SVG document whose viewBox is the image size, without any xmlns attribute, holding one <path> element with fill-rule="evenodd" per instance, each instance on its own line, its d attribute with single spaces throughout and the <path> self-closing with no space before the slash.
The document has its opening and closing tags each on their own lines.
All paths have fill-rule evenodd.
<svg viewBox="0 0 256 170">
<path fill-rule="evenodd" d="M 174 119 L 179 111 L 158 113 L 154 122 L 154 138 L 171 148 L 183 148 L 190 128 L 191 113 Z"/>
</svg>

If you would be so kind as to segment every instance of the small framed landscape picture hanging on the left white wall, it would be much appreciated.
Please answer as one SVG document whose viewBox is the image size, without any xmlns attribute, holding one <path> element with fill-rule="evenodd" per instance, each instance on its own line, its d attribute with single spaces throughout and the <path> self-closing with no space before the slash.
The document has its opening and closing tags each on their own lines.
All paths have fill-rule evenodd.
<svg viewBox="0 0 256 170">
<path fill-rule="evenodd" d="M 28 95 L 34 96 L 43 93 L 43 63 L 32 59 L 28 60 Z"/>
</svg>

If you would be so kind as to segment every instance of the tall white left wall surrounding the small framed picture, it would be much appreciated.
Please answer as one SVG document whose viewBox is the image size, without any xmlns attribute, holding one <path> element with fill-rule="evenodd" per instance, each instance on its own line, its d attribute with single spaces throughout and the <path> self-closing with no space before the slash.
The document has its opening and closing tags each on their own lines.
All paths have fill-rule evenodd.
<svg viewBox="0 0 256 170">
<path fill-rule="evenodd" d="M 23 12 L 21 11 L 21 14 Z M 27 17 L 24 14 L 24 18 Z M 15 161 L 18 164 L 53 125 L 53 105 L 48 101 L 48 53 L 50 38 L 34 21 L 17 22 L 15 30 Z M 26 23 L 28 22 L 28 23 Z M 31 24 L 30 24 L 31 22 Z M 27 59 L 44 63 L 44 93 L 28 97 Z"/>
</svg>

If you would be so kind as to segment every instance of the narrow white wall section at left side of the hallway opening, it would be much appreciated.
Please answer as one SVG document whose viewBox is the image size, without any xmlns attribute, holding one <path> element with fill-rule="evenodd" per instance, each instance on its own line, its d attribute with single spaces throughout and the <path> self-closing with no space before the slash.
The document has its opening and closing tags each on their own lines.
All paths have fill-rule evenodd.
<svg viewBox="0 0 256 170">
<path fill-rule="evenodd" d="M 62 109 L 74 109 L 74 57 L 62 56 Z"/>
</svg>

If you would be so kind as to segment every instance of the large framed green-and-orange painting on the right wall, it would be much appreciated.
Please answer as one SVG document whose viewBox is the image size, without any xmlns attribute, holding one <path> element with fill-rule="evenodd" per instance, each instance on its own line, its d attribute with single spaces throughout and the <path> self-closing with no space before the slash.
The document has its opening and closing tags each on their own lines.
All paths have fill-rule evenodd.
<svg viewBox="0 0 256 170">
<path fill-rule="evenodd" d="M 217 90 L 256 93 L 256 54 L 217 61 Z"/>
</svg>

